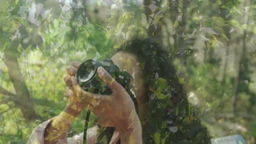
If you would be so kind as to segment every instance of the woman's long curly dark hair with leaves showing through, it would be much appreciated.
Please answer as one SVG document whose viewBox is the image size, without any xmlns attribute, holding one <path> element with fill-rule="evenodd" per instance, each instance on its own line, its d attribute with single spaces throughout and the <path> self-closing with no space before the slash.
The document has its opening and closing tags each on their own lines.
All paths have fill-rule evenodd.
<svg viewBox="0 0 256 144">
<path fill-rule="evenodd" d="M 118 49 L 135 54 L 143 69 L 149 106 L 143 125 L 143 143 L 156 143 L 154 136 L 160 136 L 165 143 L 211 143 L 207 129 L 191 111 L 183 84 L 179 82 L 172 58 L 160 44 L 151 38 L 133 39 Z M 159 78 L 165 79 L 167 88 L 156 97 Z M 159 92 L 158 92 L 159 93 Z"/>
</svg>

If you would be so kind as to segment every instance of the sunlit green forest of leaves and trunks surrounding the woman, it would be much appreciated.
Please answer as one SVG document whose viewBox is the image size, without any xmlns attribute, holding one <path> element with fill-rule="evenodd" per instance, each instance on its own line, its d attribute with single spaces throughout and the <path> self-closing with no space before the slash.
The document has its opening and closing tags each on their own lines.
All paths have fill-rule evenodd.
<svg viewBox="0 0 256 144">
<path fill-rule="evenodd" d="M 255 15 L 252 0 L 0 0 L 0 143 L 26 143 L 65 108 L 71 61 L 148 37 L 172 57 L 211 136 L 255 143 Z M 69 135 L 83 131 L 84 116 Z"/>
</svg>

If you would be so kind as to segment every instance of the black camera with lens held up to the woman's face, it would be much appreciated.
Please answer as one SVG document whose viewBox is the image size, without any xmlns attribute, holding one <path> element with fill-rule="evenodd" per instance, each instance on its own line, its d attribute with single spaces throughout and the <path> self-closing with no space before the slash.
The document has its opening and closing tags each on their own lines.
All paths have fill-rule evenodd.
<svg viewBox="0 0 256 144">
<path fill-rule="evenodd" d="M 133 94 L 130 87 L 130 74 L 126 70 L 120 70 L 118 65 L 114 64 L 111 59 L 104 59 L 103 61 L 88 59 L 80 65 L 76 77 L 80 87 L 82 87 L 84 91 L 96 94 L 112 93 L 110 88 L 98 77 L 98 67 L 103 67 L 121 86 L 123 86 L 135 105 L 137 105 L 136 96 Z"/>
</svg>

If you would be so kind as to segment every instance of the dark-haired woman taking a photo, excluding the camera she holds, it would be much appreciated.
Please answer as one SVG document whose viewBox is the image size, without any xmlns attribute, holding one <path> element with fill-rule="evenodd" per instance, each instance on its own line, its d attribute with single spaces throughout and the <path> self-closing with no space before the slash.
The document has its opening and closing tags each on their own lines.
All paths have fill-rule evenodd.
<svg viewBox="0 0 256 144">
<path fill-rule="evenodd" d="M 110 143 L 116 143 L 119 137 L 121 143 L 142 143 L 142 137 L 143 143 L 158 140 L 164 143 L 210 143 L 207 129 L 191 112 L 167 53 L 152 39 L 133 40 L 123 47 L 112 60 L 132 75 L 130 85 L 136 94 L 139 115 L 124 88 L 102 68 L 98 69 L 98 74 L 113 94 L 84 92 L 74 78 L 80 63 L 73 62 L 64 77 L 68 86 L 68 106 L 59 116 L 37 127 L 30 137 L 31 143 L 34 143 L 34 137 L 39 143 L 82 143 L 82 134 L 68 139 L 66 135 L 73 119 L 85 106 L 98 116 L 102 127 L 116 128 Z M 87 143 L 95 143 L 96 131 L 97 127 L 89 129 Z"/>
</svg>

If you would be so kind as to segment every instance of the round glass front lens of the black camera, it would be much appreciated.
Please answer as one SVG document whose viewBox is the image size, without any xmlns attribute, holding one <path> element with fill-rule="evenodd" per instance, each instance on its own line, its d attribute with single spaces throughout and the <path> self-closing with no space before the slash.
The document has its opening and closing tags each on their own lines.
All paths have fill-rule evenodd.
<svg viewBox="0 0 256 144">
<path fill-rule="evenodd" d="M 94 79 L 98 69 L 98 63 L 94 59 L 89 59 L 82 63 L 77 70 L 77 81 L 80 85 L 86 85 Z"/>
</svg>

